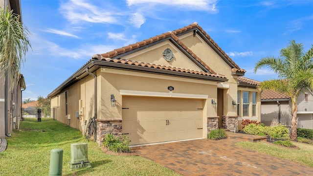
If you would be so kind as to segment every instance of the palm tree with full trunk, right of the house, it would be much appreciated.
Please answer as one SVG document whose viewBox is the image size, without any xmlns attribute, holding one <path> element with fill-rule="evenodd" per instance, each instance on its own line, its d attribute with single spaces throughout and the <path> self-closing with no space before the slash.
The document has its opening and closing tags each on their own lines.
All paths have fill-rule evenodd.
<svg viewBox="0 0 313 176">
<path fill-rule="evenodd" d="M 313 89 L 313 45 L 304 52 L 303 44 L 296 44 L 294 40 L 281 49 L 280 58 L 265 57 L 258 61 L 254 73 L 267 66 L 278 79 L 266 80 L 260 83 L 259 91 L 271 89 L 285 92 L 291 97 L 291 140 L 297 138 L 297 98 L 300 92 Z"/>
</svg>

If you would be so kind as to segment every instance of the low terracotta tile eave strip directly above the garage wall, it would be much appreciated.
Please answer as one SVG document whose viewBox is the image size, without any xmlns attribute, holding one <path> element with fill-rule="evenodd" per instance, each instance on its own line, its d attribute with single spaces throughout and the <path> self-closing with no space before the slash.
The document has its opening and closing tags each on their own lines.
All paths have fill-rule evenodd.
<svg viewBox="0 0 313 176">
<path fill-rule="evenodd" d="M 133 66 L 150 67 L 150 68 L 156 68 L 156 69 L 171 70 L 171 71 L 178 71 L 178 72 L 182 72 L 182 73 L 191 73 L 191 74 L 198 74 L 198 75 L 204 75 L 204 76 L 211 76 L 211 77 L 225 78 L 226 79 L 226 77 L 224 75 L 221 75 L 221 74 L 212 74 L 212 73 L 208 73 L 205 71 L 196 71 L 196 70 L 178 68 L 178 67 L 173 67 L 173 66 L 161 66 L 161 65 L 157 65 L 157 64 L 151 64 L 151 63 L 142 63 L 142 62 L 137 62 L 137 61 L 130 61 L 128 59 L 111 59 L 111 58 L 102 57 L 100 54 L 93 55 L 92 58 L 94 60 L 99 60 L 99 61 L 127 64 L 127 65 L 133 65 Z"/>
</svg>

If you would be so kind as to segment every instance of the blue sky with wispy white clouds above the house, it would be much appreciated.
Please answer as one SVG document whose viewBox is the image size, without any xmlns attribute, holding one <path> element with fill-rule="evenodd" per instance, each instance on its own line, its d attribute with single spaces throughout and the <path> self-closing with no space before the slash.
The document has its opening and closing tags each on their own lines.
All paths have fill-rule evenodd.
<svg viewBox="0 0 313 176">
<path fill-rule="evenodd" d="M 21 0 L 32 33 L 21 73 L 22 99 L 46 97 L 94 54 L 134 44 L 193 22 L 238 64 L 246 77 L 276 78 L 255 63 L 279 57 L 290 40 L 313 44 L 313 0 Z"/>
</svg>

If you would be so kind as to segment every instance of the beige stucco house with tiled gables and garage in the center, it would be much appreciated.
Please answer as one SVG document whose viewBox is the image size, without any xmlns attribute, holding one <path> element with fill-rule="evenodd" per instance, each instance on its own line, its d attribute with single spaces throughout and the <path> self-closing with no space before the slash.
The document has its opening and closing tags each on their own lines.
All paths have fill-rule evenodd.
<svg viewBox="0 0 313 176">
<path fill-rule="evenodd" d="M 48 98 L 57 120 L 83 134 L 95 116 L 100 145 L 105 133 L 124 133 L 131 145 L 205 138 L 219 127 L 238 131 L 238 107 L 260 120 L 254 84 L 238 83 L 245 72 L 195 22 L 93 55 Z"/>
</svg>

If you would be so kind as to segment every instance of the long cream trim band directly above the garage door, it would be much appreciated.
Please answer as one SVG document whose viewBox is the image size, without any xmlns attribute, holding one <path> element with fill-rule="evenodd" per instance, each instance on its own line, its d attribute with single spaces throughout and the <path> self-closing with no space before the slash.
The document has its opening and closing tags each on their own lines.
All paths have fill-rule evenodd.
<svg viewBox="0 0 313 176">
<path fill-rule="evenodd" d="M 132 96 L 153 96 L 153 97 L 173 97 L 173 98 L 196 98 L 208 99 L 208 95 L 173 93 L 173 92 L 152 92 L 152 91 L 137 91 L 137 90 L 119 90 L 121 95 Z"/>
</svg>

